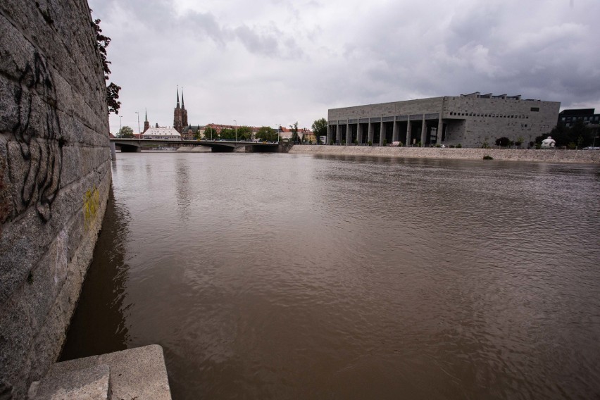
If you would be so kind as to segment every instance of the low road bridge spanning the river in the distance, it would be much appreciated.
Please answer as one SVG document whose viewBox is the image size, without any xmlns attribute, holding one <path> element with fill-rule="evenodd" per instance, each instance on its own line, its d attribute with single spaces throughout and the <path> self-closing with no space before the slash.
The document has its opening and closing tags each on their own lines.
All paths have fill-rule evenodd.
<svg viewBox="0 0 600 400">
<path fill-rule="evenodd" d="M 279 143 L 239 142 L 235 140 L 173 140 L 173 139 L 125 139 L 111 137 L 111 147 L 119 147 L 123 153 L 137 153 L 142 151 L 142 146 L 182 147 L 182 146 L 206 146 L 211 151 L 219 153 L 231 153 L 239 147 L 249 148 L 255 153 L 276 153 Z"/>
</svg>

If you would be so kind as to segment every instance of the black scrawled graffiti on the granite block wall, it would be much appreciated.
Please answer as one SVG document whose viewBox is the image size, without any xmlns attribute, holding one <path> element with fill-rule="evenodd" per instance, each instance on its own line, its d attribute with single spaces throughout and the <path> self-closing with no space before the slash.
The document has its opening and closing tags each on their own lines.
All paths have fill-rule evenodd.
<svg viewBox="0 0 600 400">
<path fill-rule="evenodd" d="M 61 185 L 63 145 L 56 111 L 56 87 L 46 60 L 37 51 L 21 71 L 15 89 L 17 115 L 9 142 L 8 168 L 17 194 L 15 212 L 35 206 L 44 222 Z"/>
</svg>

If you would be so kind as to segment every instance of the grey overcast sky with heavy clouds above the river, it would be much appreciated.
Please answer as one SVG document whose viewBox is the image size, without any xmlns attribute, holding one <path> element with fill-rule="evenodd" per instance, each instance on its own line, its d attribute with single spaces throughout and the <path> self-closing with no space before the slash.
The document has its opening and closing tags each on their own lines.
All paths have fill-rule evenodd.
<svg viewBox="0 0 600 400">
<path fill-rule="evenodd" d="M 311 127 L 328 108 L 482 92 L 600 111 L 599 0 L 88 0 L 119 123 Z"/>
</svg>

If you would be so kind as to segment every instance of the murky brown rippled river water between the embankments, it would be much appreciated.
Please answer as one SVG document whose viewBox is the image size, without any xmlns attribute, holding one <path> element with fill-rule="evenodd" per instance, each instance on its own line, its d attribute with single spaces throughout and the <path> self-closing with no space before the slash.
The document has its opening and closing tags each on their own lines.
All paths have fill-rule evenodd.
<svg viewBox="0 0 600 400">
<path fill-rule="evenodd" d="M 62 359 L 174 399 L 600 396 L 600 169 L 118 154 Z"/>
</svg>

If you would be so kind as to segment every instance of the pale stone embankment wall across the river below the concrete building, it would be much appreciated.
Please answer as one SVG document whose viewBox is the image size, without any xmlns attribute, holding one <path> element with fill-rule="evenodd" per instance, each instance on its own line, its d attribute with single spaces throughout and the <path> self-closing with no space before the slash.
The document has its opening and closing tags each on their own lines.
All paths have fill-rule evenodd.
<svg viewBox="0 0 600 400">
<path fill-rule="evenodd" d="M 294 145 L 291 154 L 331 154 L 340 156 L 380 156 L 405 158 L 454 158 L 481 160 L 492 156 L 502 161 L 542 161 L 548 163 L 600 163 L 598 150 L 450 149 L 440 147 L 307 146 Z"/>
</svg>

